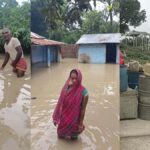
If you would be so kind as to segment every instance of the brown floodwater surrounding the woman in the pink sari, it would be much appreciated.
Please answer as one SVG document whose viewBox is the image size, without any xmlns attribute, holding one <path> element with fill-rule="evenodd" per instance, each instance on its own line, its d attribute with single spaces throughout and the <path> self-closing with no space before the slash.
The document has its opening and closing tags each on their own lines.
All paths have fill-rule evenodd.
<svg viewBox="0 0 150 150">
<path fill-rule="evenodd" d="M 52 113 L 60 91 L 73 68 L 83 74 L 89 91 L 85 131 L 77 141 L 57 138 Z M 78 64 L 64 59 L 50 68 L 37 66 L 32 72 L 32 150 L 119 150 L 119 66 Z"/>
</svg>

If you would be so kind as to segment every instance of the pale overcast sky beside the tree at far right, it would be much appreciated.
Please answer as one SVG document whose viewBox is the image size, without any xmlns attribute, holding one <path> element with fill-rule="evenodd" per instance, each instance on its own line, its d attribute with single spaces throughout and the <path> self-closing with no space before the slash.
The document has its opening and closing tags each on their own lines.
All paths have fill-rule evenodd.
<svg viewBox="0 0 150 150">
<path fill-rule="evenodd" d="M 143 23 L 141 26 L 135 28 L 135 30 L 150 33 L 150 0 L 139 0 L 139 2 L 141 3 L 141 9 L 145 9 L 147 18 L 146 22 Z"/>
</svg>

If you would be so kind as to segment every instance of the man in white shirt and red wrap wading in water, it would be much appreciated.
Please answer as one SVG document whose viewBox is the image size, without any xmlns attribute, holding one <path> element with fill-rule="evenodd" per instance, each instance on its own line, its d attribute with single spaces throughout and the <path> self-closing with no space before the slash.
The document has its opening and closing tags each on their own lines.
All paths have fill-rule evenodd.
<svg viewBox="0 0 150 150">
<path fill-rule="evenodd" d="M 4 28 L 2 34 L 5 40 L 5 59 L 0 70 L 5 68 L 10 58 L 13 72 L 17 74 L 17 77 L 22 77 L 27 69 L 27 63 L 24 59 L 21 44 L 17 38 L 12 37 L 11 31 L 8 28 Z"/>
</svg>

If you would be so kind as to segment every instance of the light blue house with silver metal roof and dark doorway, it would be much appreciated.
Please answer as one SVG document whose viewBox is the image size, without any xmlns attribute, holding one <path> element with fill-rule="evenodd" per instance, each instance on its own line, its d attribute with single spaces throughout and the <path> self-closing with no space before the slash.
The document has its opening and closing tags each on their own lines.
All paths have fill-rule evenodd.
<svg viewBox="0 0 150 150">
<path fill-rule="evenodd" d="M 85 34 L 77 41 L 81 63 L 119 63 L 120 33 Z"/>
</svg>

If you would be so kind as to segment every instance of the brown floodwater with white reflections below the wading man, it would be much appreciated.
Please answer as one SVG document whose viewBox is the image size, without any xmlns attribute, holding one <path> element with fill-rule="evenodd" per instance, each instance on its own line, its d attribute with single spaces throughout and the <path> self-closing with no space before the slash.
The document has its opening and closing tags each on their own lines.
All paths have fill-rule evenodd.
<svg viewBox="0 0 150 150">
<path fill-rule="evenodd" d="M 3 59 L 0 56 L 0 65 Z M 29 67 L 23 78 L 17 78 L 9 64 L 0 72 L 0 150 L 30 149 Z"/>
</svg>

